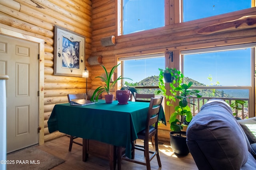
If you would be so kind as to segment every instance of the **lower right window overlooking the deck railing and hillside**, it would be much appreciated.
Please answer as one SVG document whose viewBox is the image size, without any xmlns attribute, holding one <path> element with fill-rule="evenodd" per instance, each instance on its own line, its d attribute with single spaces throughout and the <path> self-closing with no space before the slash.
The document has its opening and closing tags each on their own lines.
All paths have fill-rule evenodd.
<svg viewBox="0 0 256 170">
<path fill-rule="evenodd" d="M 243 100 L 243 118 L 254 115 L 254 58 L 256 44 L 182 51 L 184 82 L 194 82 L 203 97 L 229 104 Z M 250 116 L 251 113 L 251 116 Z"/>
</svg>

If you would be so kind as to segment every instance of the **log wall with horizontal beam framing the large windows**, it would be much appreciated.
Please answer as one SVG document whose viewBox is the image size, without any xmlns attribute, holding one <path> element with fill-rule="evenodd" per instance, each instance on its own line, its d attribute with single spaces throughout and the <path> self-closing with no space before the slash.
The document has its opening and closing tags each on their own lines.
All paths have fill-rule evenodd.
<svg viewBox="0 0 256 170">
<path fill-rule="evenodd" d="M 118 36 L 117 31 L 117 11 L 116 0 L 92 0 L 92 56 L 101 55 L 102 64 L 111 69 L 117 64 L 118 57 L 141 55 L 147 53 L 158 53 L 166 51 L 177 51 L 174 55 L 174 63 L 179 64 L 179 50 L 195 49 L 204 47 L 216 47 L 222 45 L 242 44 L 256 41 L 256 29 L 250 27 L 242 30 L 224 31 L 215 34 L 198 34 L 198 29 L 215 23 L 236 20 L 242 16 L 256 15 L 256 8 L 233 12 L 232 14 L 223 14 L 200 20 L 178 23 L 179 7 L 177 1 L 166 0 L 168 10 L 166 10 L 166 23 L 168 25 L 147 31 L 131 33 Z M 175 4 L 174 4 L 175 2 Z M 175 6 L 176 5 L 176 6 Z M 171 19 L 172 18 L 172 19 Z M 175 21 L 174 21 L 175 20 Z M 116 45 L 104 47 L 100 39 L 110 35 L 116 36 Z M 176 60 L 176 61 L 175 61 Z M 167 60 L 166 60 L 167 61 Z M 175 66 L 179 68 L 178 65 Z M 96 89 L 102 84 L 95 76 L 103 73 L 99 66 L 92 66 L 92 89 Z M 172 112 L 166 110 L 166 120 Z M 170 126 L 160 125 L 159 137 L 162 140 L 169 140 Z"/>
</svg>

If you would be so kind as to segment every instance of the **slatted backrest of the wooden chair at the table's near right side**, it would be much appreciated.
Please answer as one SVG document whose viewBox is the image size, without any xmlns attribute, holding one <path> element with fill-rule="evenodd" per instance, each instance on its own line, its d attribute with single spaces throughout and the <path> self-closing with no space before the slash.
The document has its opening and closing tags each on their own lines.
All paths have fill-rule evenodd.
<svg viewBox="0 0 256 170">
<path fill-rule="evenodd" d="M 158 127 L 158 115 L 160 107 L 162 106 L 163 96 L 160 98 L 151 98 L 148 108 L 148 116 L 146 121 L 146 134 L 149 132 L 150 125 L 154 125 L 157 130 Z"/>
</svg>

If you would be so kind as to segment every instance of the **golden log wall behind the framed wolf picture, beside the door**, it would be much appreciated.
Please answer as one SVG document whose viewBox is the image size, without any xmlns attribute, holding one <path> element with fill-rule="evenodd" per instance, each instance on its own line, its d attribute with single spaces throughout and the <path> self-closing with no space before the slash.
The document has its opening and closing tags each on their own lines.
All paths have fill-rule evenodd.
<svg viewBox="0 0 256 170">
<path fill-rule="evenodd" d="M 86 92 L 81 77 L 54 76 L 54 25 L 86 37 L 85 57 L 91 56 L 92 2 L 90 0 L 0 0 L 0 27 L 44 39 L 44 141 L 65 135 L 49 134 L 47 121 L 55 104 L 68 102 L 67 94 Z M 90 73 L 90 65 L 86 62 Z M 91 74 L 89 75 L 91 76 Z M 88 78 L 88 89 L 92 80 Z"/>
</svg>

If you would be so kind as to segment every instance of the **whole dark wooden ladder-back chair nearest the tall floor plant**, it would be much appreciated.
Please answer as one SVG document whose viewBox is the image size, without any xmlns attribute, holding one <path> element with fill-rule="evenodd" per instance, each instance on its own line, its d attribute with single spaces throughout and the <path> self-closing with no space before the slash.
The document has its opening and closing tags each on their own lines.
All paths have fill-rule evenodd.
<svg viewBox="0 0 256 170">
<path fill-rule="evenodd" d="M 135 143 L 132 146 L 133 153 L 135 154 L 135 149 L 144 151 L 144 156 L 146 159 L 146 162 L 142 162 L 138 159 L 136 159 L 136 155 L 133 155 L 132 158 L 128 158 L 125 154 L 122 154 L 122 147 L 118 147 L 118 170 L 121 170 L 121 161 L 126 160 L 129 162 L 134 162 L 137 164 L 146 165 L 147 170 L 150 170 L 150 161 L 156 156 L 158 166 L 161 167 L 161 161 L 160 161 L 160 155 L 158 150 L 158 115 L 160 112 L 160 107 L 162 104 L 163 97 L 160 98 L 151 98 L 150 105 L 148 108 L 148 115 L 146 120 L 146 129 L 140 131 L 137 133 L 138 139 L 144 140 L 144 145 L 136 145 Z M 154 126 L 153 126 L 154 125 Z M 154 136 L 154 142 L 155 142 L 155 151 L 149 150 L 149 139 Z M 152 155 L 151 155 L 152 154 Z"/>
</svg>

